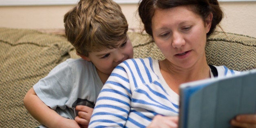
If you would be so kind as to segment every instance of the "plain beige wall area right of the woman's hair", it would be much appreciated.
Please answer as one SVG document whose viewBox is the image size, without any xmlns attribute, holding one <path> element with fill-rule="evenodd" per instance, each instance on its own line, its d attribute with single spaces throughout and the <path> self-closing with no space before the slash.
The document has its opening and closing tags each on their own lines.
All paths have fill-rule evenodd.
<svg viewBox="0 0 256 128">
<path fill-rule="evenodd" d="M 225 32 L 256 37 L 256 2 L 223 2 L 225 17 L 221 26 Z"/>
</svg>

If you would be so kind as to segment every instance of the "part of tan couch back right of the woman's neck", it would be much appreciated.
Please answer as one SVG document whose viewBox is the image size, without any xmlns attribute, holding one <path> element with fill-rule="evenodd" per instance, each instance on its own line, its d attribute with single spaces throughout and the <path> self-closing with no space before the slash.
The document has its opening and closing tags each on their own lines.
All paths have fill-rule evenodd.
<svg viewBox="0 0 256 128">
<path fill-rule="evenodd" d="M 209 64 L 236 71 L 256 68 L 256 38 L 218 32 L 208 38 L 205 51 Z"/>
</svg>

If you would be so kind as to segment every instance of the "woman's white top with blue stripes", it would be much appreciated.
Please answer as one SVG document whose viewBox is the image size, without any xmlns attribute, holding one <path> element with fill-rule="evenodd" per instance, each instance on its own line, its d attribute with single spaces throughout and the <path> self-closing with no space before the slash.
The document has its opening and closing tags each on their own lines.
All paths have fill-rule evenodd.
<svg viewBox="0 0 256 128">
<path fill-rule="evenodd" d="M 236 72 L 216 68 L 219 76 Z M 130 59 L 119 64 L 103 86 L 89 127 L 143 128 L 158 114 L 177 116 L 179 95 L 161 76 L 158 60 Z"/>
</svg>

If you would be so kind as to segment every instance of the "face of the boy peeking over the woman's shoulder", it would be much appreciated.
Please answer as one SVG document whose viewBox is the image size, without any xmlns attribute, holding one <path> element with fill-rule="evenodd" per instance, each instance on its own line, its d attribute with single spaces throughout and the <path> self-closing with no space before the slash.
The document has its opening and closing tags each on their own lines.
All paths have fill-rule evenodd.
<svg viewBox="0 0 256 128">
<path fill-rule="evenodd" d="M 88 61 L 93 62 L 97 68 L 98 74 L 110 75 L 114 68 L 124 60 L 133 57 L 132 43 L 128 35 L 120 40 L 116 49 L 104 49 L 99 52 L 91 52 L 86 57 Z"/>
</svg>

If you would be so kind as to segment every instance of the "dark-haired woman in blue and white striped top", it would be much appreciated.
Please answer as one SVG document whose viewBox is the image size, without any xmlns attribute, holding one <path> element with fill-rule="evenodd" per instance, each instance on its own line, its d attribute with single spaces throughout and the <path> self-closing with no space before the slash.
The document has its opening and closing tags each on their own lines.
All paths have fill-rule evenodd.
<svg viewBox="0 0 256 128">
<path fill-rule="evenodd" d="M 177 127 L 180 84 L 240 73 L 207 65 L 206 38 L 223 18 L 217 0 L 142 0 L 138 10 L 166 59 L 119 64 L 99 94 L 89 127 Z M 243 115 L 231 124 L 253 126 L 255 120 Z"/>
</svg>

